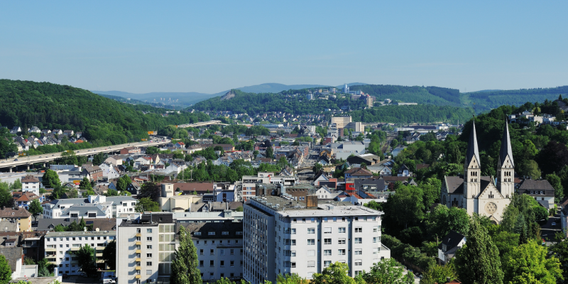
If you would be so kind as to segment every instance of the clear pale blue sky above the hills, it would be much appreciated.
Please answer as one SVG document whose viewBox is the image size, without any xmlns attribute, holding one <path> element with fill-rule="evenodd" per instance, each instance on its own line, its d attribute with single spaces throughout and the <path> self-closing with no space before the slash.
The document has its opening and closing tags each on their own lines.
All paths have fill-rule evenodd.
<svg viewBox="0 0 568 284">
<path fill-rule="evenodd" d="M 567 12 L 568 1 L 4 1 L 0 78 L 133 93 L 557 87 Z"/>
</svg>

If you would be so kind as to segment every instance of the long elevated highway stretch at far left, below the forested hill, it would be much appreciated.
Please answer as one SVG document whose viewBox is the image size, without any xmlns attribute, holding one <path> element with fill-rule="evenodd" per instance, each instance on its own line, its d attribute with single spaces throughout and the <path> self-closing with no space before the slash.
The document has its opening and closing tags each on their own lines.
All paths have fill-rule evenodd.
<svg viewBox="0 0 568 284">
<path fill-rule="evenodd" d="M 143 142 L 134 142 L 134 143 L 104 146 L 97 148 L 87 148 L 75 151 L 75 155 L 96 155 L 98 153 L 114 153 L 114 152 L 119 152 L 121 151 L 121 149 L 126 147 L 160 146 L 170 143 L 170 141 L 171 141 L 170 139 L 155 139 Z M 30 165 L 33 165 L 35 163 L 45 164 L 57 158 L 62 158 L 62 153 L 65 152 L 48 153 L 41 155 L 27 155 L 27 156 L 19 156 L 18 158 L 9 158 L 6 160 L 0 160 L 0 168 L 9 168 L 9 171 L 11 173 L 12 168 L 16 168 L 19 165 L 27 165 L 27 168 L 29 170 Z"/>
</svg>

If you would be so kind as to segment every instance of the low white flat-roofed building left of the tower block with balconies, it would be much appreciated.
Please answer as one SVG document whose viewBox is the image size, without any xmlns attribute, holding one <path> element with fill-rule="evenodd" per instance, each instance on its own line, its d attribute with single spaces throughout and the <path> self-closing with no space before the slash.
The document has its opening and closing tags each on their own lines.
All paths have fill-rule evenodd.
<svg viewBox="0 0 568 284">
<path fill-rule="evenodd" d="M 45 258 L 55 264 L 55 276 L 79 275 L 80 266 L 73 254 L 82 246 L 95 249 L 97 267 L 104 269 L 102 251 L 116 237 L 116 231 L 48 231 L 45 234 Z"/>
</svg>

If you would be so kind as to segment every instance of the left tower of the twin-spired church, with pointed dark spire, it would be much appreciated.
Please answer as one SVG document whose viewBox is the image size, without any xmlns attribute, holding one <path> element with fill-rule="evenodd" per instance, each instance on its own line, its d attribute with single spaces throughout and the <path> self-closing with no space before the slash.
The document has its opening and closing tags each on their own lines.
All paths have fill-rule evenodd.
<svg viewBox="0 0 568 284">
<path fill-rule="evenodd" d="M 471 125 L 471 134 L 467 143 L 466 161 L 464 163 L 464 207 L 468 213 L 477 212 L 477 198 L 481 190 L 481 160 L 477 148 L 475 119 Z"/>
</svg>

